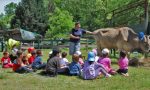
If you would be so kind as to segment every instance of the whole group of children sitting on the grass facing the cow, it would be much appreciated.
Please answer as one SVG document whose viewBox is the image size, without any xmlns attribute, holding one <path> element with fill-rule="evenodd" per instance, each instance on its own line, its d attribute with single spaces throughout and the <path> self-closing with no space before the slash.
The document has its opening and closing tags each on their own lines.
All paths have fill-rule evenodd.
<svg viewBox="0 0 150 90">
<path fill-rule="evenodd" d="M 43 69 L 45 74 L 50 77 L 55 77 L 57 74 L 65 74 L 71 76 L 80 76 L 85 80 L 95 79 L 99 76 L 111 77 L 117 73 L 128 75 L 128 58 L 126 52 L 120 52 L 118 60 L 119 69 L 115 71 L 111 68 L 111 59 L 109 58 L 109 50 L 102 50 L 102 56 L 97 56 L 97 50 L 93 49 L 88 52 L 85 59 L 80 51 L 76 51 L 72 55 L 72 62 L 67 60 L 66 52 L 62 52 L 56 48 L 49 53 L 47 63 L 42 62 L 42 51 L 34 48 L 28 49 L 28 54 L 18 50 L 17 58 L 12 61 L 9 58 L 7 51 L 3 52 L 1 59 L 3 68 L 12 68 L 17 73 L 35 72 Z"/>
</svg>

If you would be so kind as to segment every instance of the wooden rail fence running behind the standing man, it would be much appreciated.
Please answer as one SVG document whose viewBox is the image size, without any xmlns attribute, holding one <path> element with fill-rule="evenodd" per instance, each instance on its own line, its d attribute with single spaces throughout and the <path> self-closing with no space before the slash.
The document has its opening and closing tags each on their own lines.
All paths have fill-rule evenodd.
<svg viewBox="0 0 150 90">
<path fill-rule="evenodd" d="M 20 40 L 22 48 L 28 47 L 35 47 L 36 49 L 52 49 L 53 47 L 60 47 L 60 48 L 69 48 L 69 40 L 62 39 L 62 40 Z M 82 39 L 81 47 L 85 47 L 86 50 L 90 47 L 96 47 L 95 40 L 93 39 Z M 5 50 L 5 41 L 0 41 L 0 48 L 1 52 Z"/>
</svg>

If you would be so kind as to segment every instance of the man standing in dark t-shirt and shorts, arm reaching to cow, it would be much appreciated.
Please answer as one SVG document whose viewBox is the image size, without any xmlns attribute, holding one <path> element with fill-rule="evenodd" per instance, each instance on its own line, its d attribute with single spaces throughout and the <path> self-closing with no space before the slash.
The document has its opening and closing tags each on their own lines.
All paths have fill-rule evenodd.
<svg viewBox="0 0 150 90">
<path fill-rule="evenodd" d="M 85 31 L 84 29 L 80 28 L 81 25 L 79 22 L 75 23 L 75 28 L 72 29 L 70 33 L 70 47 L 69 47 L 69 54 L 73 55 L 76 51 L 80 51 L 80 38 L 83 34 L 94 34 L 90 31 Z"/>
</svg>

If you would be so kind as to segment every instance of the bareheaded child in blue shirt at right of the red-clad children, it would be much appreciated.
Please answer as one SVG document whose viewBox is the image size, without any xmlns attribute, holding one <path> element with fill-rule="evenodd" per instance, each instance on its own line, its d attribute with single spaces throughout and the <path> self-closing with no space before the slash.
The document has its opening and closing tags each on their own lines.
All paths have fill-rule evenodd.
<svg viewBox="0 0 150 90">
<path fill-rule="evenodd" d="M 35 57 L 35 60 L 32 63 L 33 69 L 44 69 L 46 67 L 46 64 L 42 62 L 42 51 L 37 50 L 36 51 L 37 56 Z"/>
</svg>

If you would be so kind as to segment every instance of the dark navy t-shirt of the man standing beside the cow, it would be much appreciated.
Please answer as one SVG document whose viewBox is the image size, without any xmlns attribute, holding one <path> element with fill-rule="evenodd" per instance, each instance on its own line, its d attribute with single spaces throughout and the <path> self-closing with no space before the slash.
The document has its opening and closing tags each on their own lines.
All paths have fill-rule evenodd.
<svg viewBox="0 0 150 90">
<path fill-rule="evenodd" d="M 70 34 L 72 34 L 73 36 L 81 37 L 85 33 L 86 33 L 86 31 L 81 28 L 79 30 L 76 30 L 73 28 Z M 80 41 L 80 39 L 70 38 L 70 42 L 78 43 L 79 41 Z"/>
</svg>

